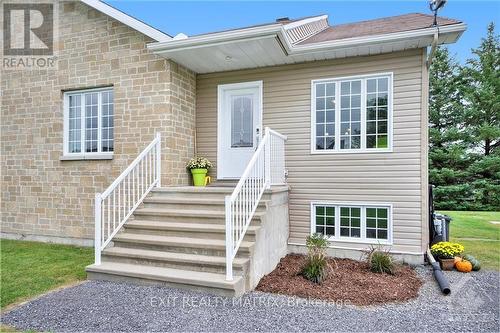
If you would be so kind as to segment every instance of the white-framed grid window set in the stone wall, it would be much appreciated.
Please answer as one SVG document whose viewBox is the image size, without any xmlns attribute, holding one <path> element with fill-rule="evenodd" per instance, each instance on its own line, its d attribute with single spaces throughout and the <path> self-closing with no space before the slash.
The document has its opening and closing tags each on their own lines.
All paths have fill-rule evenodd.
<svg viewBox="0 0 500 333">
<path fill-rule="evenodd" d="M 64 157 L 107 159 L 114 151 L 112 88 L 64 93 Z"/>
</svg>

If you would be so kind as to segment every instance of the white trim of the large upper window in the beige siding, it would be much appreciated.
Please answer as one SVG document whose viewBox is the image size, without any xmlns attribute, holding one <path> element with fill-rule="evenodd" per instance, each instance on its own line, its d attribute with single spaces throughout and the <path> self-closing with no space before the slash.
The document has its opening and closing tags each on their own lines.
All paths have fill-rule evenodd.
<svg viewBox="0 0 500 333">
<path fill-rule="evenodd" d="M 347 80 L 361 81 L 361 146 L 366 147 L 366 80 L 376 77 L 389 77 L 387 105 L 387 148 L 340 149 L 340 82 Z M 316 149 L 316 83 L 335 83 L 335 149 Z M 311 80 L 311 154 L 359 154 L 359 153 L 392 153 L 393 152 L 393 72 L 366 75 L 342 76 L 336 78 Z M 339 97 L 337 99 L 337 97 Z"/>
</svg>

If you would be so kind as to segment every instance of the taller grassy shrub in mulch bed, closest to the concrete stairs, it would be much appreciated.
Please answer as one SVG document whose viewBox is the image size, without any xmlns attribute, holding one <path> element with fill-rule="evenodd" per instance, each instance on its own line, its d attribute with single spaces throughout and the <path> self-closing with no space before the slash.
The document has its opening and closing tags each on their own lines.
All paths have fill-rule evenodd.
<svg viewBox="0 0 500 333">
<path fill-rule="evenodd" d="M 322 234 L 307 237 L 307 261 L 301 274 L 309 281 L 321 284 L 328 276 L 326 249 L 329 244 L 328 238 Z"/>
</svg>

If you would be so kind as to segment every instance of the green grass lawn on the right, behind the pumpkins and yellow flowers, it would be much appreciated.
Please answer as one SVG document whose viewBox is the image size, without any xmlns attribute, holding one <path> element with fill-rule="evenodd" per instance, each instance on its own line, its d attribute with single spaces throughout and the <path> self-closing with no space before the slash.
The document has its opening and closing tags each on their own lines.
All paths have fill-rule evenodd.
<svg viewBox="0 0 500 333">
<path fill-rule="evenodd" d="M 500 212 L 440 211 L 453 218 L 450 239 L 465 247 L 486 269 L 500 270 Z M 477 240 L 476 240 L 477 239 Z"/>
</svg>

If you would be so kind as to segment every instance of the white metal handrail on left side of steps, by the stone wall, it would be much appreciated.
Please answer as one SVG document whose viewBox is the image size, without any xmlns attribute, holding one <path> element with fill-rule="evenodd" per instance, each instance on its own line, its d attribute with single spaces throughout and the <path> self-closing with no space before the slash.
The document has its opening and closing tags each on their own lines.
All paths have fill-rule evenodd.
<svg viewBox="0 0 500 333">
<path fill-rule="evenodd" d="M 102 193 L 95 195 L 95 264 L 101 252 L 153 187 L 161 186 L 161 136 L 137 156 Z"/>
</svg>

